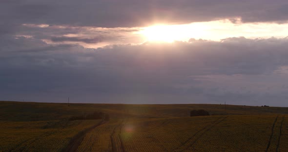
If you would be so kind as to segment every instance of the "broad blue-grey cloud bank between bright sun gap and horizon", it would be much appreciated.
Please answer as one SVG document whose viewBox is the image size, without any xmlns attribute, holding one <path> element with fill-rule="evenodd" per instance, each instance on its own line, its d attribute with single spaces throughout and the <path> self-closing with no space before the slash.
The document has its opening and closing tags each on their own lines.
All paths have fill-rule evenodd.
<svg viewBox="0 0 288 152">
<path fill-rule="evenodd" d="M 0 42 L 0 93 L 49 102 L 287 106 L 287 43 L 226 38 L 87 49 L 11 38 Z"/>
</svg>

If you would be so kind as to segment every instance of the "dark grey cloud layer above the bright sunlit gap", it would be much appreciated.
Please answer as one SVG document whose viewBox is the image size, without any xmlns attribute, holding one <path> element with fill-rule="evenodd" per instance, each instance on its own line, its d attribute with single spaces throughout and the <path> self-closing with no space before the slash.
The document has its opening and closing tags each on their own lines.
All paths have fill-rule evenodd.
<svg viewBox="0 0 288 152">
<path fill-rule="evenodd" d="M 97 27 L 236 17 L 243 22 L 285 22 L 287 8 L 287 0 L 2 0 L 0 20 L 14 26 L 34 23 Z"/>
</svg>

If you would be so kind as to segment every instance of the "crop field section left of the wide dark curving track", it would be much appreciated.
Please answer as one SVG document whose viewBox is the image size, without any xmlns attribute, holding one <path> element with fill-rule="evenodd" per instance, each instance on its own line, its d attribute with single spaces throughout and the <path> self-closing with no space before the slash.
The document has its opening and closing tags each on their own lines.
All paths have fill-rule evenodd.
<svg viewBox="0 0 288 152">
<path fill-rule="evenodd" d="M 59 152 L 100 120 L 1 122 L 0 151 Z"/>
</svg>

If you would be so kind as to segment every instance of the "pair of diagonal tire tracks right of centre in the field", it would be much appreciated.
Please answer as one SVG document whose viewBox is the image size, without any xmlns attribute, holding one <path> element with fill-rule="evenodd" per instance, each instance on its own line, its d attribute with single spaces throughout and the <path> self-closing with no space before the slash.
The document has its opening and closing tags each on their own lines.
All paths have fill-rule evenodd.
<svg viewBox="0 0 288 152">
<path fill-rule="evenodd" d="M 203 129 L 199 130 L 198 132 L 194 133 L 190 138 L 188 138 L 184 144 L 182 144 L 181 146 L 177 147 L 176 149 L 174 149 L 173 151 L 180 151 L 183 152 L 185 151 L 187 148 L 191 147 L 196 141 L 198 141 L 199 138 L 201 138 L 208 130 L 210 130 L 211 128 L 213 128 L 215 125 L 221 123 L 224 119 L 226 119 L 228 116 L 226 117 L 220 117 L 217 120 L 215 120 L 212 125 L 207 125 L 206 127 L 204 127 Z M 191 141 L 193 139 L 193 137 L 195 137 L 197 134 L 203 132 L 202 134 L 200 134 L 200 136 L 198 138 L 196 138 L 191 144 L 187 145 L 189 141 Z M 183 150 L 181 150 L 181 148 L 184 147 Z"/>
</svg>

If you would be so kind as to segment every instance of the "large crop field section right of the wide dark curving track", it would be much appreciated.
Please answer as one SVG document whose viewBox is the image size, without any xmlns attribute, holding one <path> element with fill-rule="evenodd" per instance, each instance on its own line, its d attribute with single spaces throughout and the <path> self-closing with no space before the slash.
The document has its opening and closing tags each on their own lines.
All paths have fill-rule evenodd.
<svg viewBox="0 0 288 152">
<path fill-rule="evenodd" d="M 263 152 L 269 142 L 267 152 L 275 152 L 277 147 L 283 151 L 287 148 L 288 128 L 283 127 L 287 120 L 283 122 L 279 143 L 278 139 L 284 116 L 228 115 L 107 122 L 86 134 L 78 152 Z"/>
</svg>

